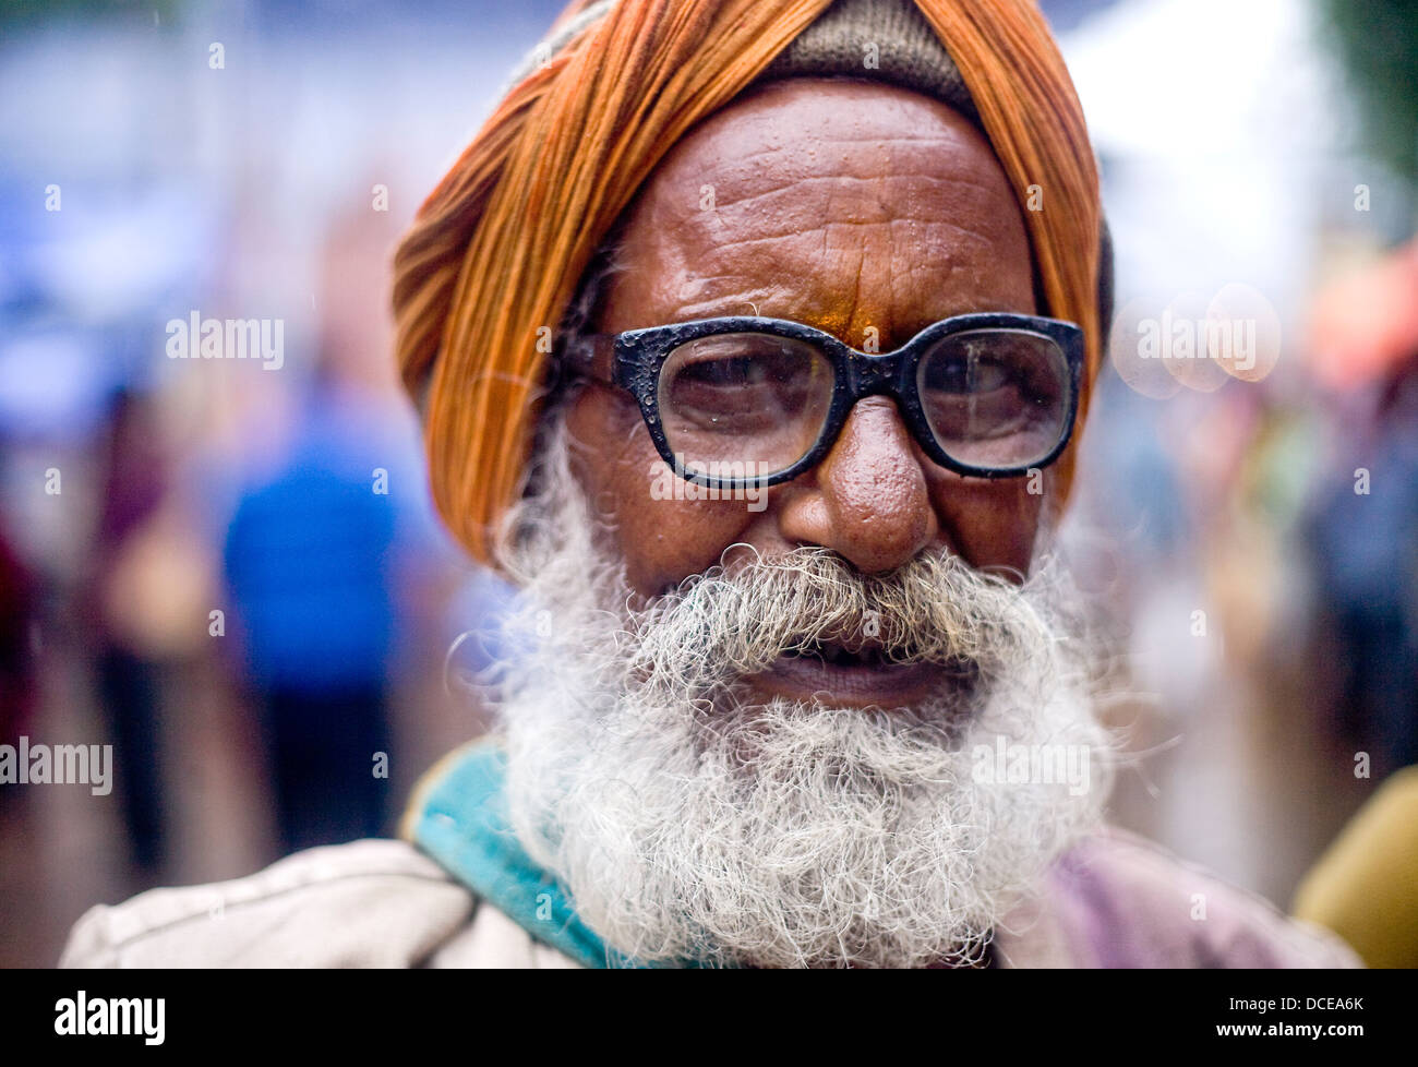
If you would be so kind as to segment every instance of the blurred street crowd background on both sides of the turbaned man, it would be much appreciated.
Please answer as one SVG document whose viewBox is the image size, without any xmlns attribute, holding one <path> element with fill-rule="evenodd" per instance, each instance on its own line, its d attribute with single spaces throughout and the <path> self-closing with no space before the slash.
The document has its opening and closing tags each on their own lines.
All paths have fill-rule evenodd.
<svg viewBox="0 0 1418 1067">
<path fill-rule="evenodd" d="M 1418 4 L 1042 7 L 1117 250 L 1065 531 L 1113 819 L 1283 907 L 1418 762 Z M 0 785 L 0 965 L 391 833 L 485 729 L 450 677 L 508 590 L 432 516 L 389 260 L 559 10 L 0 7 L 0 743 L 115 746 L 105 796 Z M 1251 367 L 1136 359 L 1218 302 Z M 279 324 L 281 359 L 167 358 L 194 315 Z"/>
</svg>

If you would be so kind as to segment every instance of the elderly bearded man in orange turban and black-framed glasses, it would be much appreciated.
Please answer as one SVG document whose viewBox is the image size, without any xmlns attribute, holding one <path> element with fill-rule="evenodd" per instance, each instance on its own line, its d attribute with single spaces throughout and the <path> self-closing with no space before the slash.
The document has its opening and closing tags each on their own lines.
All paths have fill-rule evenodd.
<svg viewBox="0 0 1418 1067">
<path fill-rule="evenodd" d="M 522 589 L 406 841 L 77 965 L 1347 966 L 1102 826 L 1051 541 L 1109 316 L 1028 0 L 573 3 L 397 258 L 434 494 Z"/>
</svg>

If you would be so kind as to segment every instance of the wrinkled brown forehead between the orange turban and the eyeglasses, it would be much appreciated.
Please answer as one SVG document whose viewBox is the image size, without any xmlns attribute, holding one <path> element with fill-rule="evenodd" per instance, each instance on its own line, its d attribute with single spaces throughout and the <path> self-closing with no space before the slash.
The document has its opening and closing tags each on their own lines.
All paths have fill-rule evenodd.
<svg viewBox="0 0 1418 1067">
<path fill-rule="evenodd" d="M 879 82 L 740 96 L 661 160 L 615 250 L 607 331 L 761 314 L 895 343 L 954 314 L 1035 309 L 1028 234 L 988 142 L 949 105 Z"/>
</svg>

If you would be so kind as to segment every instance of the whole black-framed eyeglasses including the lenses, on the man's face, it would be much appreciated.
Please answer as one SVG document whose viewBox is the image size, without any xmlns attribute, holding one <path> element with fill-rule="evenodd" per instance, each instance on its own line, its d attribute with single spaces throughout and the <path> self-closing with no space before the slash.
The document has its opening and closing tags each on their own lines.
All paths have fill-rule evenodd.
<svg viewBox="0 0 1418 1067">
<path fill-rule="evenodd" d="M 831 451 L 852 406 L 889 396 L 946 470 L 1012 478 L 1054 463 L 1078 416 L 1083 332 L 984 312 L 868 353 L 801 322 L 740 315 L 574 338 L 569 369 L 635 397 L 676 475 L 727 490 L 790 481 Z"/>
</svg>

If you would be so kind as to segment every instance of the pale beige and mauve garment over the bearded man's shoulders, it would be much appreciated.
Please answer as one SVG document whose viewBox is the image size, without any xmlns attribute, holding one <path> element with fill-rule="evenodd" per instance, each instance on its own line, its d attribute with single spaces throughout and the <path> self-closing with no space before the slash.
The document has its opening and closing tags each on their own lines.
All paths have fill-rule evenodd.
<svg viewBox="0 0 1418 1067">
<path fill-rule="evenodd" d="M 143 892 L 74 927 L 69 968 L 574 968 L 413 844 L 311 848 L 235 881 Z M 1007 968 L 1349 968 L 1317 927 L 1109 830 L 995 931 Z"/>
</svg>

